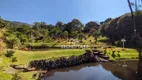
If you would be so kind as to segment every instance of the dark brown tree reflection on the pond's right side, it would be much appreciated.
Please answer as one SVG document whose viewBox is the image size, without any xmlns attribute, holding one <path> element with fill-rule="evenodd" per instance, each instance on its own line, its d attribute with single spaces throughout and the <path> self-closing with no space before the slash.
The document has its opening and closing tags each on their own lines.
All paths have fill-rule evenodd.
<svg viewBox="0 0 142 80">
<path fill-rule="evenodd" d="M 126 64 L 127 67 L 123 66 L 123 62 L 113 63 L 111 65 L 103 65 L 103 68 L 111 71 L 115 77 L 121 80 L 138 80 L 138 61 L 126 61 Z"/>
</svg>

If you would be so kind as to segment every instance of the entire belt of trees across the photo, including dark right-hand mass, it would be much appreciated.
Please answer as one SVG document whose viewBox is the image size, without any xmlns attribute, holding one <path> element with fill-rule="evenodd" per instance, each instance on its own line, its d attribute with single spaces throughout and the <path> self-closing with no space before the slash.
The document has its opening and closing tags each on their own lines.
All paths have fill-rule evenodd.
<svg viewBox="0 0 142 80">
<path fill-rule="evenodd" d="M 57 22 L 55 25 L 45 22 L 27 24 L 16 21 L 7 21 L 0 18 L 1 46 L 22 49 L 33 46 L 31 43 L 40 43 L 40 47 L 55 46 L 62 40 L 87 39 L 93 36 L 95 40 L 100 36 L 109 38 L 112 45 L 120 45 L 121 39 L 126 39 L 127 47 L 141 47 L 142 45 L 142 15 L 136 15 L 137 35 L 134 35 L 131 14 L 127 13 L 115 19 L 108 18 L 103 22 L 90 21 L 85 25 L 78 19 L 64 24 Z M 136 46 L 137 45 L 137 46 Z M 38 45 L 39 46 L 39 45 Z"/>
</svg>

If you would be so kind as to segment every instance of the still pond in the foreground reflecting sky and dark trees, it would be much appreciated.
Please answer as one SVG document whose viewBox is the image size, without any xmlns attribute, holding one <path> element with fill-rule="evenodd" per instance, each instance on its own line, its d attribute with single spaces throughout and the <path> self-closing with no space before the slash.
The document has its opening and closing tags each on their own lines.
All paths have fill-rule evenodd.
<svg viewBox="0 0 142 80">
<path fill-rule="evenodd" d="M 137 60 L 88 63 L 51 70 L 41 80 L 140 80 L 138 64 Z"/>
</svg>

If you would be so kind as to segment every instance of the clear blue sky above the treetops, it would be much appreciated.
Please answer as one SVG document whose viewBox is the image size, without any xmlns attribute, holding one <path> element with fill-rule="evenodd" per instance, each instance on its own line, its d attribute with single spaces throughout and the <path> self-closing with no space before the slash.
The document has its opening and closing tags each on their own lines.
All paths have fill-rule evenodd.
<svg viewBox="0 0 142 80">
<path fill-rule="evenodd" d="M 32 24 L 56 24 L 79 19 L 104 21 L 130 12 L 127 0 L 0 0 L 0 16 L 5 20 Z"/>
</svg>

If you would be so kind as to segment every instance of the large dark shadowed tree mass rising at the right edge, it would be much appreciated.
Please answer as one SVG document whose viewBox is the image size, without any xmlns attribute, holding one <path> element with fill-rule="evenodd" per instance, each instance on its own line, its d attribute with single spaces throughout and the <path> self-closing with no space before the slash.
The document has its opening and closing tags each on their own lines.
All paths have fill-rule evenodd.
<svg viewBox="0 0 142 80">
<path fill-rule="evenodd" d="M 134 22 L 130 13 L 115 19 L 108 18 L 101 26 L 101 33 L 107 36 L 112 43 L 127 40 L 127 45 L 142 45 L 142 15 L 135 15 L 136 35 L 134 35 Z"/>
</svg>

